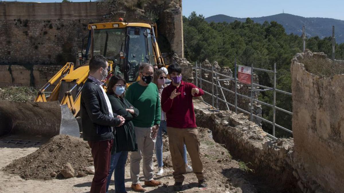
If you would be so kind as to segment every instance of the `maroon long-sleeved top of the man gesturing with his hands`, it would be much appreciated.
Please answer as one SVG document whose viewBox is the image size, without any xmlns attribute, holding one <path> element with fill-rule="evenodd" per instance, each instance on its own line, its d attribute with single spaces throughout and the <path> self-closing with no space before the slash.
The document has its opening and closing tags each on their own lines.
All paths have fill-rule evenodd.
<svg viewBox="0 0 344 193">
<path fill-rule="evenodd" d="M 161 107 L 166 113 L 167 126 L 175 128 L 196 128 L 196 118 L 193 107 L 191 89 L 197 88 L 194 84 L 181 81 L 179 88 L 172 85 L 172 83 L 165 87 L 161 94 Z M 171 93 L 174 89 L 181 94 L 174 99 L 170 99 Z M 204 91 L 200 88 L 200 93 L 195 93 L 196 96 L 202 96 Z"/>
</svg>

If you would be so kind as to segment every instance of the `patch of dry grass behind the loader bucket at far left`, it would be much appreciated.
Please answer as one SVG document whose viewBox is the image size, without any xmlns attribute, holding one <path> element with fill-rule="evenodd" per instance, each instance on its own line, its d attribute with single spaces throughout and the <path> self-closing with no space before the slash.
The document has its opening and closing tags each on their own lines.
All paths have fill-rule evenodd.
<svg viewBox="0 0 344 193">
<path fill-rule="evenodd" d="M 37 91 L 32 87 L 4 87 L 0 88 L 0 100 L 6 101 L 34 101 Z"/>
</svg>

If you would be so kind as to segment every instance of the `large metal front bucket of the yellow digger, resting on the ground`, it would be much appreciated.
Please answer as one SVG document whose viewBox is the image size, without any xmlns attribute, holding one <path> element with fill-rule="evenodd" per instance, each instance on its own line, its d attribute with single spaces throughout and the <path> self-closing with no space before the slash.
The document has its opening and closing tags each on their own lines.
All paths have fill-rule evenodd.
<svg viewBox="0 0 344 193">
<path fill-rule="evenodd" d="M 59 134 L 80 137 L 78 122 L 66 104 L 0 101 L 0 136 L 50 138 Z"/>
</svg>

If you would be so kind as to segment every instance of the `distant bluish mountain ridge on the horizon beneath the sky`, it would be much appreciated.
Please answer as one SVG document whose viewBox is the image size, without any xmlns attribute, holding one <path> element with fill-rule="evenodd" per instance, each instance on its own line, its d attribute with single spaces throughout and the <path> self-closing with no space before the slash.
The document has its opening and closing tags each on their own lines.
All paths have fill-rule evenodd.
<svg viewBox="0 0 344 193">
<path fill-rule="evenodd" d="M 292 15 L 288 13 L 280 13 L 269 16 L 262 16 L 256 18 L 250 18 L 256 23 L 264 23 L 265 21 L 276 21 L 283 25 L 287 34 L 302 35 L 302 26 L 305 26 L 306 36 L 313 37 L 319 36 L 320 38 L 332 36 L 332 26 L 335 26 L 336 43 L 344 43 L 344 34 L 339 33 L 344 31 L 344 21 L 332 18 L 305 18 L 298 15 Z M 227 22 L 231 23 L 235 20 L 245 22 L 246 18 L 236 18 L 224 14 L 213 15 L 205 18 L 207 22 Z"/>
</svg>

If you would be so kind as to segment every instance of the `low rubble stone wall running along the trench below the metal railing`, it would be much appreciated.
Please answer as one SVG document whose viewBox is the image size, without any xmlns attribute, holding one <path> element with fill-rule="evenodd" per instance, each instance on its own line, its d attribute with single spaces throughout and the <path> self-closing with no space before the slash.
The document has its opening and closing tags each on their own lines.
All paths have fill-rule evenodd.
<svg viewBox="0 0 344 193">
<path fill-rule="evenodd" d="M 292 166 L 292 139 L 269 141 L 262 128 L 248 121 L 243 113 L 214 112 L 211 106 L 198 100 L 194 101 L 194 108 L 197 126 L 209 128 L 214 140 L 224 144 L 235 159 L 250 162 L 248 167 L 266 178 L 276 192 L 300 192 L 293 175 L 297 171 Z"/>
</svg>

